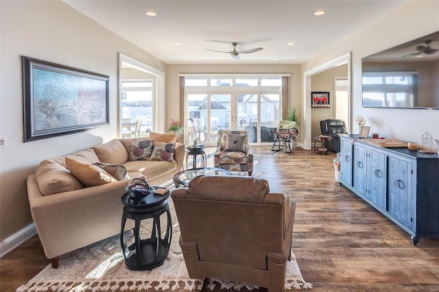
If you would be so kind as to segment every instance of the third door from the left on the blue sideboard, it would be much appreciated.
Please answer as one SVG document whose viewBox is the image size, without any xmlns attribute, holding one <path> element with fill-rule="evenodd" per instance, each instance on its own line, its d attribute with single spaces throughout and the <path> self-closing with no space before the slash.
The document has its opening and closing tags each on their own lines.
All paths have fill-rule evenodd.
<svg viewBox="0 0 439 292">
<path fill-rule="evenodd" d="M 367 171 L 367 183 L 366 183 L 366 197 L 370 201 L 377 204 L 377 206 L 386 210 L 386 189 L 385 182 L 387 181 L 386 173 L 386 158 L 385 154 L 382 154 L 373 149 L 368 150 L 368 171 Z"/>
</svg>

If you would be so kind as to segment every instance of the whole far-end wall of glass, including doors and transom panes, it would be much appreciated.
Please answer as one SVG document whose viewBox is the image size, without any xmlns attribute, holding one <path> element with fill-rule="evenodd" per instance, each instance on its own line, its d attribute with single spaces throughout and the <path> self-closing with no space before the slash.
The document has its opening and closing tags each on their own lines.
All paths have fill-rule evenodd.
<svg viewBox="0 0 439 292">
<path fill-rule="evenodd" d="M 250 143 L 272 143 L 281 106 L 281 75 L 185 77 L 187 130 L 202 144 L 215 145 L 221 129 L 247 130 Z"/>
</svg>

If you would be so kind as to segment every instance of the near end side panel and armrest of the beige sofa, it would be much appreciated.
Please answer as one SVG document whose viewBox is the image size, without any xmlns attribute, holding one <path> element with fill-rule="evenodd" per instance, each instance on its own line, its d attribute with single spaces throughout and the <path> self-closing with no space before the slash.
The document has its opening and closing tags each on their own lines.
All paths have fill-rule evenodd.
<svg viewBox="0 0 439 292">
<path fill-rule="evenodd" d="M 126 193 L 128 182 L 44 196 L 35 175 L 29 175 L 27 193 L 32 219 L 47 258 L 56 258 L 118 234 L 123 212 L 121 196 Z"/>
</svg>

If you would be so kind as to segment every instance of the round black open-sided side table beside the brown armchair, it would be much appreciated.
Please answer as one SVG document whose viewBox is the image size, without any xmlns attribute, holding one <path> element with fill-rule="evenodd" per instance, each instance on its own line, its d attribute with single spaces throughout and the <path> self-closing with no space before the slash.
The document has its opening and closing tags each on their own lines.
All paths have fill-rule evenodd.
<svg viewBox="0 0 439 292">
<path fill-rule="evenodd" d="M 161 189 L 154 186 L 156 190 Z M 163 263 L 163 260 L 169 253 L 172 237 L 171 212 L 169 212 L 169 191 L 165 189 L 163 195 L 151 193 L 143 199 L 132 199 L 130 193 L 122 196 L 123 215 L 121 222 L 121 250 L 123 259 L 128 269 L 143 270 L 154 269 Z M 161 238 L 161 215 L 166 213 L 167 225 L 165 236 Z M 127 245 L 125 225 L 127 219 L 134 221 L 134 243 Z M 151 236 L 146 239 L 141 238 L 140 226 L 141 221 L 152 219 Z"/>
</svg>

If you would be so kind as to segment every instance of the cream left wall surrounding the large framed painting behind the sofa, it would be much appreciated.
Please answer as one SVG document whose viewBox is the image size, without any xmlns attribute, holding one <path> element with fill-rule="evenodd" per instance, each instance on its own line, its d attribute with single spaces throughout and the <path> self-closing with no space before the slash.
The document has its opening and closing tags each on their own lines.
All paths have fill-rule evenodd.
<svg viewBox="0 0 439 292">
<path fill-rule="evenodd" d="M 45 158 L 117 136 L 118 52 L 166 71 L 166 65 L 62 1 L 0 1 L 0 241 L 32 223 L 25 180 Z M 110 76 L 110 127 L 23 143 L 21 56 Z"/>
</svg>

